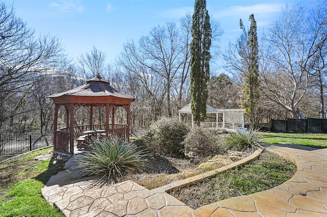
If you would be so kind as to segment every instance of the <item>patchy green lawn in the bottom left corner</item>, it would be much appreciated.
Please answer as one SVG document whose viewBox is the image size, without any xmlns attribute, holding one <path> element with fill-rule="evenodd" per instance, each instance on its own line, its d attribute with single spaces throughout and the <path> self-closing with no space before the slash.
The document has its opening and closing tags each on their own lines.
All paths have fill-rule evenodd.
<svg viewBox="0 0 327 217">
<path fill-rule="evenodd" d="M 41 195 L 41 188 L 62 170 L 61 160 L 36 161 L 50 149 L 28 153 L 0 165 L 0 216 L 64 216 Z"/>
</svg>

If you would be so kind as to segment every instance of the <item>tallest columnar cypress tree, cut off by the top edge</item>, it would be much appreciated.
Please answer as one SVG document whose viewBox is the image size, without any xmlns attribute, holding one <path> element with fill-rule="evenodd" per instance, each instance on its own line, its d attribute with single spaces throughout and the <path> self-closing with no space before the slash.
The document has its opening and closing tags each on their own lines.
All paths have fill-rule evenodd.
<svg viewBox="0 0 327 217">
<path fill-rule="evenodd" d="M 197 125 L 205 119 L 207 84 L 210 77 L 209 61 L 211 25 L 205 0 L 196 0 L 192 21 L 191 42 L 191 111 Z"/>
</svg>

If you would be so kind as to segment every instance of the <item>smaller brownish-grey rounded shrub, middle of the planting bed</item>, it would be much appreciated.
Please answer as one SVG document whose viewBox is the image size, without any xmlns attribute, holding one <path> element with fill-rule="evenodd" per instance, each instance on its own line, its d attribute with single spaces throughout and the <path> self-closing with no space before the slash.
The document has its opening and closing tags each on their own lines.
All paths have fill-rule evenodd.
<svg viewBox="0 0 327 217">
<path fill-rule="evenodd" d="M 198 156 L 212 156 L 220 153 L 220 138 L 214 129 L 194 127 L 186 135 L 182 144 L 185 151 L 194 151 Z"/>
</svg>

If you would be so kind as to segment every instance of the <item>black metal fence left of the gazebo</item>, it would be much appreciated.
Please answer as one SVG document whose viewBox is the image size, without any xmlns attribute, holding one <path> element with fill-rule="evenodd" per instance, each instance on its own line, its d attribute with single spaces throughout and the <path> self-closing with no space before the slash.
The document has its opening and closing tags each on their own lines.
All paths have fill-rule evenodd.
<svg viewBox="0 0 327 217">
<path fill-rule="evenodd" d="M 53 145 L 53 133 L 46 134 L 1 134 L 0 161 L 18 154 Z"/>
</svg>

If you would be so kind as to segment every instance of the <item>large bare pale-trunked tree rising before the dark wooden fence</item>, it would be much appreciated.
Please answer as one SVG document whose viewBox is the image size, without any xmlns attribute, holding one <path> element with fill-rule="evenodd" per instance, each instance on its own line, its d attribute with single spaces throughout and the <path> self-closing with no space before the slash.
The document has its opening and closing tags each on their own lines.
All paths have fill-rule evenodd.
<svg viewBox="0 0 327 217">
<path fill-rule="evenodd" d="M 312 25 L 317 14 L 308 16 L 306 12 L 301 4 L 282 11 L 268 29 L 263 56 L 263 93 L 296 118 L 297 106 L 314 85 L 313 59 L 326 41 L 326 35 L 321 37 L 320 32 L 325 29 L 325 21 L 314 21 Z"/>
</svg>

